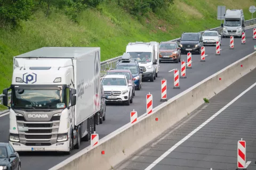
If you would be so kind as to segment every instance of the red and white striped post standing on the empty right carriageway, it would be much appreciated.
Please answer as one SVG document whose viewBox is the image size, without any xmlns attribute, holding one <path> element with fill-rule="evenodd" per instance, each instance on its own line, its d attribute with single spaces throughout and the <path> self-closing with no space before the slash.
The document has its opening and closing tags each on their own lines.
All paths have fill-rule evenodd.
<svg viewBox="0 0 256 170">
<path fill-rule="evenodd" d="M 237 168 L 245 168 L 246 164 L 246 142 L 238 140 L 237 142 Z"/>
</svg>

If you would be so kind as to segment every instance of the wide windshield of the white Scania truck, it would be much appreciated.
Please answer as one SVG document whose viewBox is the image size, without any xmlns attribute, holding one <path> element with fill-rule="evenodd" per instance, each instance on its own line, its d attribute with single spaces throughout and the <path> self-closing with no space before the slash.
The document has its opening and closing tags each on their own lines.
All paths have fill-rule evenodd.
<svg viewBox="0 0 256 170">
<path fill-rule="evenodd" d="M 12 108 L 66 108 L 65 90 L 13 90 Z"/>
</svg>

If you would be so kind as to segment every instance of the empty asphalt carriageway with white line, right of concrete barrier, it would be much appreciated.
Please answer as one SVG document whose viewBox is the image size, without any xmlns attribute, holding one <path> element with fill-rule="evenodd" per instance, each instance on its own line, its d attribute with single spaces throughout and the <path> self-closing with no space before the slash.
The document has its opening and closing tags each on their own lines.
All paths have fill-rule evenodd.
<svg viewBox="0 0 256 170">
<path fill-rule="evenodd" d="M 241 138 L 246 141 L 246 162 L 251 162 L 247 169 L 256 169 L 255 95 L 253 70 L 114 169 L 235 170 L 237 142 Z"/>
</svg>

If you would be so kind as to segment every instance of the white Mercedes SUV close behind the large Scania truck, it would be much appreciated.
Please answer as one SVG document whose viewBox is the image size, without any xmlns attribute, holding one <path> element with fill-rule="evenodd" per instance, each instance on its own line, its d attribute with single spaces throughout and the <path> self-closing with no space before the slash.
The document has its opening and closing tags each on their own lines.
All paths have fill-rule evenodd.
<svg viewBox="0 0 256 170">
<path fill-rule="evenodd" d="M 107 74 L 101 84 L 104 94 L 107 95 L 106 103 L 125 103 L 130 105 L 133 99 L 132 84 L 126 75 Z"/>
</svg>

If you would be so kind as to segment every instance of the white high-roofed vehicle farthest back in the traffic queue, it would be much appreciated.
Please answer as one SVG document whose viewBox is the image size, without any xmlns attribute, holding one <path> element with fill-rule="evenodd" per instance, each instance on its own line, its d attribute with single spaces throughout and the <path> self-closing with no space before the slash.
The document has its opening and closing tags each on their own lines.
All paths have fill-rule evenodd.
<svg viewBox="0 0 256 170">
<path fill-rule="evenodd" d="M 221 24 L 223 37 L 242 37 L 245 31 L 243 10 L 227 10 L 224 23 Z"/>
</svg>

